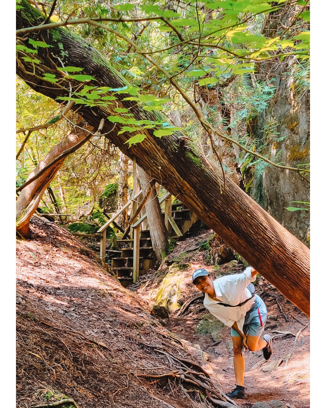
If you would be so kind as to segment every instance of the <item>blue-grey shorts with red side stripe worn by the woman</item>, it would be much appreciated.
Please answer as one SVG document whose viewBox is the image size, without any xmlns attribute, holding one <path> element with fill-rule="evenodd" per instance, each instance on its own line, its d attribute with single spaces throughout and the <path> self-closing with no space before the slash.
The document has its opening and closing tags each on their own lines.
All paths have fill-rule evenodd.
<svg viewBox="0 0 326 408">
<path fill-rule="evenodd" d="M 256 301 L 245 315 L 245 323 L 243 324 L 243 333 L 245 335 L 260 337 L 264 331 L 267 320 L 267 309 L 260 297 L 256 295 Z M 231 336 L 240 337 L 239 333 L 231 327 Z"/>
</svg>

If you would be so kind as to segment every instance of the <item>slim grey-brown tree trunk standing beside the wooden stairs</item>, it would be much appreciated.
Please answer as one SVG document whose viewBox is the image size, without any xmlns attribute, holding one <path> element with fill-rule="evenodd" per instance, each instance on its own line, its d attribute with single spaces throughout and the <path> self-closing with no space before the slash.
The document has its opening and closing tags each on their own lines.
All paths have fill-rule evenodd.
<svg viewBox="0 0 326 408">
<path fill-rule="evenodd" d="M 141 167 L 138 166 L 139 181 L 142 191 L 148 191 L 152 177 L 149 177 Z M 150 227 L 150 237 L 152 239 L 153 250 L 159 262 L 167 253 L 167 231 L 162 217 L 162 211 L 159 204 L 159 198 L 156 195 L 156 189 L 145 204 L 147 213 L 147 222 Z"/>
</svg>

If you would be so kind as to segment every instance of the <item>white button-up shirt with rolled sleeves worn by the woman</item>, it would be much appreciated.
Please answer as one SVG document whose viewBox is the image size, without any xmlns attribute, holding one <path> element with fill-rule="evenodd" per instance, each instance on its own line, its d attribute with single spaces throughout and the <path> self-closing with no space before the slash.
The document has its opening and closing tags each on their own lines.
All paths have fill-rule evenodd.
<svg viewBox="0 0 326 408">
<path fill-rule="evenodd" d="M 213 281 L 215 295 L 218 299 L 221 299 L 222 303 L 237 305 L 251 297 L 250 290 L 247 289 L 247 286 L 255 279 L 256 277 L 251 277 L 251 266 L 248 266 L 245 271 L 238 275 L 222 276 Z M 242 306 L 226 307 L 220 305 L 220 302 L 212 299 L 208 293 L 205 293 L 204 306 L 213 316 L 228 327 L 231 327 L 234 322 L 237 322 L 238 329 L 243 333 L 242 327 L 245 322 L 245 315 L 254 302 L 255 297 L 248 300 L 248 302 Z"/>
</svg>

